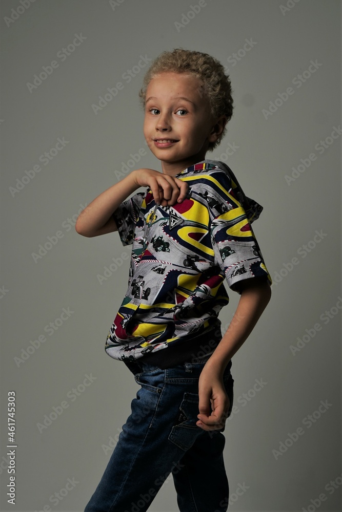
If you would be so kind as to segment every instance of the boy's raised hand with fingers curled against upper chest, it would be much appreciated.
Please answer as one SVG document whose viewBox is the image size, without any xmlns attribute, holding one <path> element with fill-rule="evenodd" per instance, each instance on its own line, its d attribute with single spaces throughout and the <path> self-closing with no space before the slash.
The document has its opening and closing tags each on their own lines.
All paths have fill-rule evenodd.
<svg viewBox="0 0 342 512">
<path fill-rule="evenodd" d="M 153 169 L 136 169 L 133 172 L 136 184 L 149 187 L 154 201 L 160 206 L 172 206 L 186 198 L 189 185 L 185 181 Z"/>
</svg>

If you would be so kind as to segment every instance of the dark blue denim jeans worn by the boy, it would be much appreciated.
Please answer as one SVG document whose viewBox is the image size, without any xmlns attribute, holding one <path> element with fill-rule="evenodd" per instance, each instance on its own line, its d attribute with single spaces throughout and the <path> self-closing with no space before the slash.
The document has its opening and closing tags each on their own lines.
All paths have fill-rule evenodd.
<svg viewBox="0 0 342 512">
<path fill-rule="evenodd" d="M 166 370 L 139 360 L 127 363 L 140 389 L 84 512 L 144 512 L 170 474 L 180 512 L 227 510 L 225 427 L 207 432 L 196 425 L 198 379 L 208 358 Z M 229 367 L 223 380 L 229 416 L 234 383 Z"/>
</svg>

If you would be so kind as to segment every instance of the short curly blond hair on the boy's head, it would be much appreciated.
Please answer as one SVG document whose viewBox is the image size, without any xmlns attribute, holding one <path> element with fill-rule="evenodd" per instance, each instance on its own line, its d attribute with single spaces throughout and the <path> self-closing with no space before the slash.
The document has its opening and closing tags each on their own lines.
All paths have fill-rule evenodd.
<svg viewBox="0 0 342 512">
<path fill-rule="evenodd" d="M 233 115 L 232 88 L 229 75 L 225 74 L 222 64 L 211 55 L 183 48 L 165 51 L 151 63 L 144 76 L 143 87 L 139 91 L 140 104 L 145 110 L 146 90 L 150 80 L 160 73 L 174 72 L 194 75 L 202 84 L 210 103 L 211 114 L 214 118 L 222 115 L 227 117 L 227 123 Z M 210 142 L 208 151 L 218 146 L 227 132 L 227 123 L 219 138 Z"/>
</svg>

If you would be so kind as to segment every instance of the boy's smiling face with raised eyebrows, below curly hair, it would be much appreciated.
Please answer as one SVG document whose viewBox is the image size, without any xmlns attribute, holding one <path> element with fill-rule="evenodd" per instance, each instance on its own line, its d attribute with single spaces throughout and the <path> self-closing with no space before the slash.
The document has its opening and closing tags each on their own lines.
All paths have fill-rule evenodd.
<svg viewBox="0 0 342 512">
<path fill-rule="evenodd" d="M 146 91 L 144 136 L 162 161 L 163 173 L 175 176 L 205 159 L 215 121 L 201 82 L 193 75 L 162 73 Z"/>
</svg>

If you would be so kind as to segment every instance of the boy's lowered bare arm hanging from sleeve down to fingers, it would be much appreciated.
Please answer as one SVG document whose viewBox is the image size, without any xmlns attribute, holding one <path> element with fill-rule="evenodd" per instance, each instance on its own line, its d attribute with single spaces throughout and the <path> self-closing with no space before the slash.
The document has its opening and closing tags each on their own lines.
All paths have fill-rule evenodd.
<svg viewBox="0 0 342 512">
<path fill-rule="evenodd" d="M 232 321 L 199 377 L 196 424 L 207 431 L 221 429 L 226 422 L 230 403 L 223 384 L 225 368 L 252 332 L 271 298 L 271 287 L 265 278 L 246 279 L 239 285 L 241 297 Z"/>
</svg>

